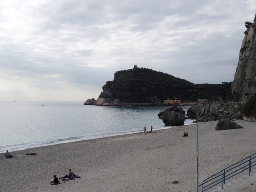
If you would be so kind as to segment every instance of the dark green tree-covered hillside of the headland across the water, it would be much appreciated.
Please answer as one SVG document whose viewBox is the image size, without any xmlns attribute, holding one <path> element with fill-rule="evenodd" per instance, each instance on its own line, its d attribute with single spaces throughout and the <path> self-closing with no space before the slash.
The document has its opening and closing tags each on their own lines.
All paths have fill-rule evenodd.
<svg viewBox="0 0 256 192">
<path fill-rule="evenodd" d="M 113 81 L 102 87 L 100 97 L 121 102 L 152 102 L 152 98 L 197 101 L 197 99 L 232 100 L 231 82 L 222 84 L 193 84 L 167 73 L 147 68 L 118 71 Z"/>
</svg>

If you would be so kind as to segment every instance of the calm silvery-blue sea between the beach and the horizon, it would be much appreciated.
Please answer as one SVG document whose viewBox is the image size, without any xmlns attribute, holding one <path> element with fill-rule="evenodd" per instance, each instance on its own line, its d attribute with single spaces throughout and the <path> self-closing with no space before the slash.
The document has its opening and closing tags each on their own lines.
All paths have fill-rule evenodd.
<svg viewBox="0 0 256 192">
<path fill-rule="evenodd" d="M 1 151 L 165 129 L 164 107 L 104 107 L 83 102 L 0 101 Z M 187 107 L 183 110 L 187 111 Z M 186 120 L 185 124 L 191 124 Z"/>
</svg>

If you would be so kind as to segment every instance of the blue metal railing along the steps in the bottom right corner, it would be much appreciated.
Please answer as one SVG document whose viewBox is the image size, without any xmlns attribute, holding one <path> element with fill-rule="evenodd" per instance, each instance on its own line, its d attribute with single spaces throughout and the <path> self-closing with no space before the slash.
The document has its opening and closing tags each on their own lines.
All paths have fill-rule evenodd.
<svg viewBox="0 0 256 192">
<path fill-rule="evenodd" d="M 226 181 L 238 174 L 241 174 L 243 172 L 251 174 L 252 167 L 256 166 L 256 153 L 246 157 L 245 159 L 234 163 L 233 165 L 221 170 L 220 172 L 210 176 L 209 178 L 203 180 L 202 184 L 198 185 L 198 188 L 200 188 L 200 191 L 206 191 L 218 184 L 222 185 L 222 188 L 224 188 L 224 184 L 226 184 Z"/>
</svg>

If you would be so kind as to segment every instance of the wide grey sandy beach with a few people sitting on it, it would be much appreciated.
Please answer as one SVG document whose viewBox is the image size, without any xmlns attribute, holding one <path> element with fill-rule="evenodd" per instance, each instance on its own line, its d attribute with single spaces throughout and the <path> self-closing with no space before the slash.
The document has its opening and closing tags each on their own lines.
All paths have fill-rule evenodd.
<svg viewBox="0 0 256 192">
<path fill-rule="evenodd" d="M 217 121 L 199 123 L 200 182 L 255 153 L 256 124 L 236 122 L 244 128 L 216 131 Z M 197 191 L 197 124 L 10 153 L 14 158 L 0 159 L 0 191 Z M 81 178 L 49 184 L 68 169 Z M 239 191 L 256 191 L 256 183 Z"/>
</svg>

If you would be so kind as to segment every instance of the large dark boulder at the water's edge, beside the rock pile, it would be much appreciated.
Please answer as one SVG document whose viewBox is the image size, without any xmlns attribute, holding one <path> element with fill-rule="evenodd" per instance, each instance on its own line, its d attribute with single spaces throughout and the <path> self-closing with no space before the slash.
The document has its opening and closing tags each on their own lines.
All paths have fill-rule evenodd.
<svg viewBox="0 0 256 192">
<path fill-rule="evenodd" d="M 181 106 L 169 106 L 158 113 L 163 120 L 164 126 L 182 126 L 185 121 L 185 111 Z"/>
</svg>

